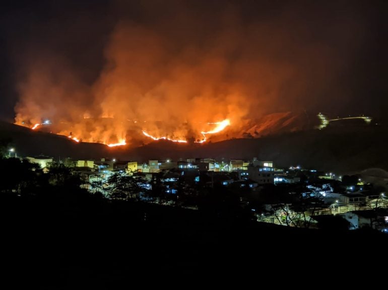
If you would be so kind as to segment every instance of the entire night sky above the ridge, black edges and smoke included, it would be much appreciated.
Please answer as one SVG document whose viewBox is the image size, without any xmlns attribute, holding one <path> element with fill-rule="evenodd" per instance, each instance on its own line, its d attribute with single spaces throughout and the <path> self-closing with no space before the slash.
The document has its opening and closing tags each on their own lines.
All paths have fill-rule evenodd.
<svg viewBox="0 0 388 290">
<path fill-rule="evenodd" d="M 109 106 L 122 101 L 112 97 L 118 90 L 137 92 L 133 106 L 157 92 L 167 110 L 177 103 L 168 94 L 182 91 L 190 100 L 223 96 L 228 110 L 243 107 L 241 117 L 382 117 L 387 12 L 386 1 L 2 1 L 1 119 L 12 121 L 18 102 L 25 115 L 33 103 L 51 114 L 75 99 L 79 107 Z"/>
</svg>

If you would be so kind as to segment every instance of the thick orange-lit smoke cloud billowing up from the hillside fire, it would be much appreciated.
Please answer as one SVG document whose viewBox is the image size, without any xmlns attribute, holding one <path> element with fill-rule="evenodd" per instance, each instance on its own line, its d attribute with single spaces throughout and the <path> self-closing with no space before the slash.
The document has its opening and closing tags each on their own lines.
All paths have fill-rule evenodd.
<svg viewBox="0 0 388 290">
<path fill-rule="evenodd" d="M 54 32 L 32 30 L 16 123 L 49 119 L 53 131 L 84 141 L 137 144 L 147 140 L 142 130 L 201 140 L 209 122 L 229 119 L 222 138 L 240 137 L 266 114 L 346 107 L 349 70 L 366 33 L 359 10 L 308 3 L 118 2 L 108 9 L 114 20 L 94 20 L 108 27 L 101 37 L 85 30 L 73 38 L 82 17 L 70 30 L 55 19 Z"/>
</svg>

